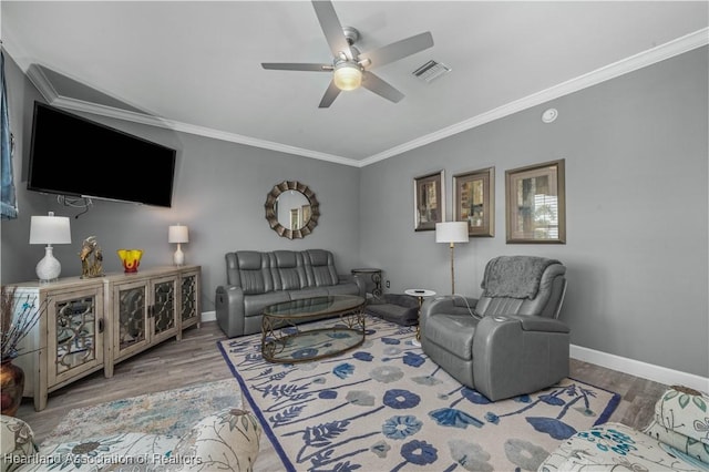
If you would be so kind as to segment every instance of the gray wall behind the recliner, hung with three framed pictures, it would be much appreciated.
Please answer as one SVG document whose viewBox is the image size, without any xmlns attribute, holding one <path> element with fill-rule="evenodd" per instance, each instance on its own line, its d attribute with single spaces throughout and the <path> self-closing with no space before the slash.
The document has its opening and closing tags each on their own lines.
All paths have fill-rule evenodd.
<svg viewBox="0 0 709 472">
<path fill-rule="evenodd" d="M 413 230 L 412 179 L 495 167 L 495 237 L 455 246 L 458 293 L 484 264 L 532 254 L 568 267 L 572 342 L 709 377 L 707 48 L 362 168 L 360 247 L 391 290 L 450 294 L 446 244 Z M 559 117 L 544 124 L 554 106 Z M 567 244 L 505 244 L 505 170 L 566 160 Z"/>
</svg>

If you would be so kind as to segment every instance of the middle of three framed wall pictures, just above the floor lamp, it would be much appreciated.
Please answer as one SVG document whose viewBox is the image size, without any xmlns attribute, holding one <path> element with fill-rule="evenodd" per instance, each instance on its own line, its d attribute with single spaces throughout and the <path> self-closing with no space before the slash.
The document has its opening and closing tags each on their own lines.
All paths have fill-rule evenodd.
<svg viewBox="0 0 709 472">
<path fill-rule="evenodd" d="M 495 167 L 453 176 L 453 218 L 467 222 L 469 236 L 495 235 Z"/>
</svg>

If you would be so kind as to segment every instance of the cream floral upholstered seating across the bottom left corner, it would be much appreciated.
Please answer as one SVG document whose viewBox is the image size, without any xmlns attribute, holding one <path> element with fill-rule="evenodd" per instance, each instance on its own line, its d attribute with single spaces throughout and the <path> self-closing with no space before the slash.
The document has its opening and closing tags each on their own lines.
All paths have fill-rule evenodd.
<svg viewBox="0 0 709 472">
<path fill-rule="evenodd" d="M 185 435 L 138 432 L 38 448 L 24 421 L 0 417 L 1 471 L 251 471 L 261 428 L 253 413 L 226 409 Z"/>
</svg>

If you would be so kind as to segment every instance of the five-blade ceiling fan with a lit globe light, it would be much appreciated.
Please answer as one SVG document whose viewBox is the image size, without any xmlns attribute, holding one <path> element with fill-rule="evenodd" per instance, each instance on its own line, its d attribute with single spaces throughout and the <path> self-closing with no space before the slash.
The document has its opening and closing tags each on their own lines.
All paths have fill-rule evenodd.
<svg viewBox="0 0 709 472">
<path fill-rule="evenodd" d="M 351 27 L 342 28 L 332 2 L 329 0 L 312 0 L 312 7 L 325 33 L 325 39 L 330 47 L 330 51 L 332 51 L 332 63 L 264 62 L 261 66 L 282 71 L 332 72 L 330 85 L 320 101 L 319 107 L 321 109 L 330 106 L 340 94 L 340 91 L 354 90 L 360 85 L 394 103 L 403 99 L 403 93 L 370 72 L 370 69 L 431 48 L 433 45 L 431 33 L 427 31 L 373 51 L 361 53 L 354 47 L 359 39 L 359 31 Z"/>
</svg>

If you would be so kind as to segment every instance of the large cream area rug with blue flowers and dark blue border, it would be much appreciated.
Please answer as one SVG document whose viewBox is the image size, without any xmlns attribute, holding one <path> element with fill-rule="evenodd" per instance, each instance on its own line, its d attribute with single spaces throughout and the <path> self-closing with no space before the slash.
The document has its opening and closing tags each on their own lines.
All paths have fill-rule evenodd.
<svg viewBox="0 0 709 472">
<path fill-rule="evenodd" d="M 535 471 L 563 440 L 606 422 L 619 401 L 565 379 L 490 402 L 428 359 L 413 336 L 368 317 L 362 346 L 319 361 L 269 363 L 260 335 L 219 348 L 289 471 Z M 259 454 L 255 470 L 274 464 L 264 461 Z"/>
</svg>

